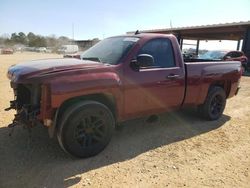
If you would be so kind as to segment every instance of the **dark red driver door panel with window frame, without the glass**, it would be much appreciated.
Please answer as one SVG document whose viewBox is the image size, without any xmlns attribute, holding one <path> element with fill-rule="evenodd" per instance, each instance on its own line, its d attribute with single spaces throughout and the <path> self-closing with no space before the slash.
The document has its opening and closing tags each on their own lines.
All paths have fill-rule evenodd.
<svg viewBox="0 0 250 188">
<path fill-rule="evenodd" d="M 136 72 L 131 69 L 130 61 L 139 49 L 149 40 L 167 37 L 171 40 L 176 67 L 153 68 Z M 140 117 L 178 108 L 185 93 L 185 71 L 178 43 L 173 36 L 145 35 L 130 53 L 124 66 L 124 118 Z M 168 79 L 170 74 L 179 75 L 175 80 Z"/>
</svg>

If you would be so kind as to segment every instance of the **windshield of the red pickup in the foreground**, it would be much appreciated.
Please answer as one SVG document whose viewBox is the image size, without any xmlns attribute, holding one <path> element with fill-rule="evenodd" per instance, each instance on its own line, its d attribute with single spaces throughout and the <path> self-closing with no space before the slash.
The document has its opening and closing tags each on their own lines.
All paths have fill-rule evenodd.
<svg viewBox="0 0 250 188">
<path fill-rule="evenodd" d="M 137 37 L 107 38 L 86 50 L 81 55 L 81 59 L 115 65 L 119 63 L 119 60 L 128 53 L 138 40 Z"/>
</svg>

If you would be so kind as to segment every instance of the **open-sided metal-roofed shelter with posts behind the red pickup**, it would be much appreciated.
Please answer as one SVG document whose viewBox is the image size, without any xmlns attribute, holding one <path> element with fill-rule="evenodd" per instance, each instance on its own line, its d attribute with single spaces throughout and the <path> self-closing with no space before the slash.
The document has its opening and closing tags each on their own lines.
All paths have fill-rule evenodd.
<svg viewBox="0 0 250 188">
<path fill-rule="evenodd" d="M 127 33 L 132 34 L 135 33 L 135 31 Z M 198 55 L 200 41 L 202 40 L 236 41 L 235 50 L 243 51 L 248 57 L 248 60 L 250 60 L 250 21 L 190 27 L 152 29 L 143 30 L 140 31 L 140 33 L 173 34 L 177 37 L 181 49 L 183 49 L 183 45 L 189 45 L 195 49 L 194 51 L 192 51 L 192 53 L 194 53 L 195 55 Z M 184 43 L 184 40 L 193 40 L 194 43 Z"/>
</svg>

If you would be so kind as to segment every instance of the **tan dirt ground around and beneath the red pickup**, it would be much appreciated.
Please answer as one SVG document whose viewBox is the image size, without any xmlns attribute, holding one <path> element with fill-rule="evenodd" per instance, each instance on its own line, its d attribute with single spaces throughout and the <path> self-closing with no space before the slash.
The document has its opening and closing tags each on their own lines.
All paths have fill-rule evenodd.
<svg viewBox="0 0 250 188">
<path fill-rule="evenodd" d="M 208 122 L 194 110 L 163 114 L 158 122 L 123 123 L 108 147 L 89 159 L 65 154 L 43 127 L 7 125 L 14 111 L 7 68 L 53 54 L 0 55 L 0 187 L 249 187 L 250 77 L 227 101 L 223 117 Z"/>
</svg>

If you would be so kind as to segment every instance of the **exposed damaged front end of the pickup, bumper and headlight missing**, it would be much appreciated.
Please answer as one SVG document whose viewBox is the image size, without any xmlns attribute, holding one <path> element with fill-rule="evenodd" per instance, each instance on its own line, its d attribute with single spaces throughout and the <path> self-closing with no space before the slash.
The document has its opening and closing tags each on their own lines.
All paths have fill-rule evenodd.
<svg viewBox="0 0 250 188">
<path fill-rule="evenodd" d="M 38 119 L 40 114 L 41 85 L 39 84 L 17 84 L 11 82 L 14 90 L 14 100 L 10 101 L 10 107 L 5 110 L 16 110 L 13 122 L 8 127 L 23 125 L 31 128 L 41 124 Z"/>
</svg>

